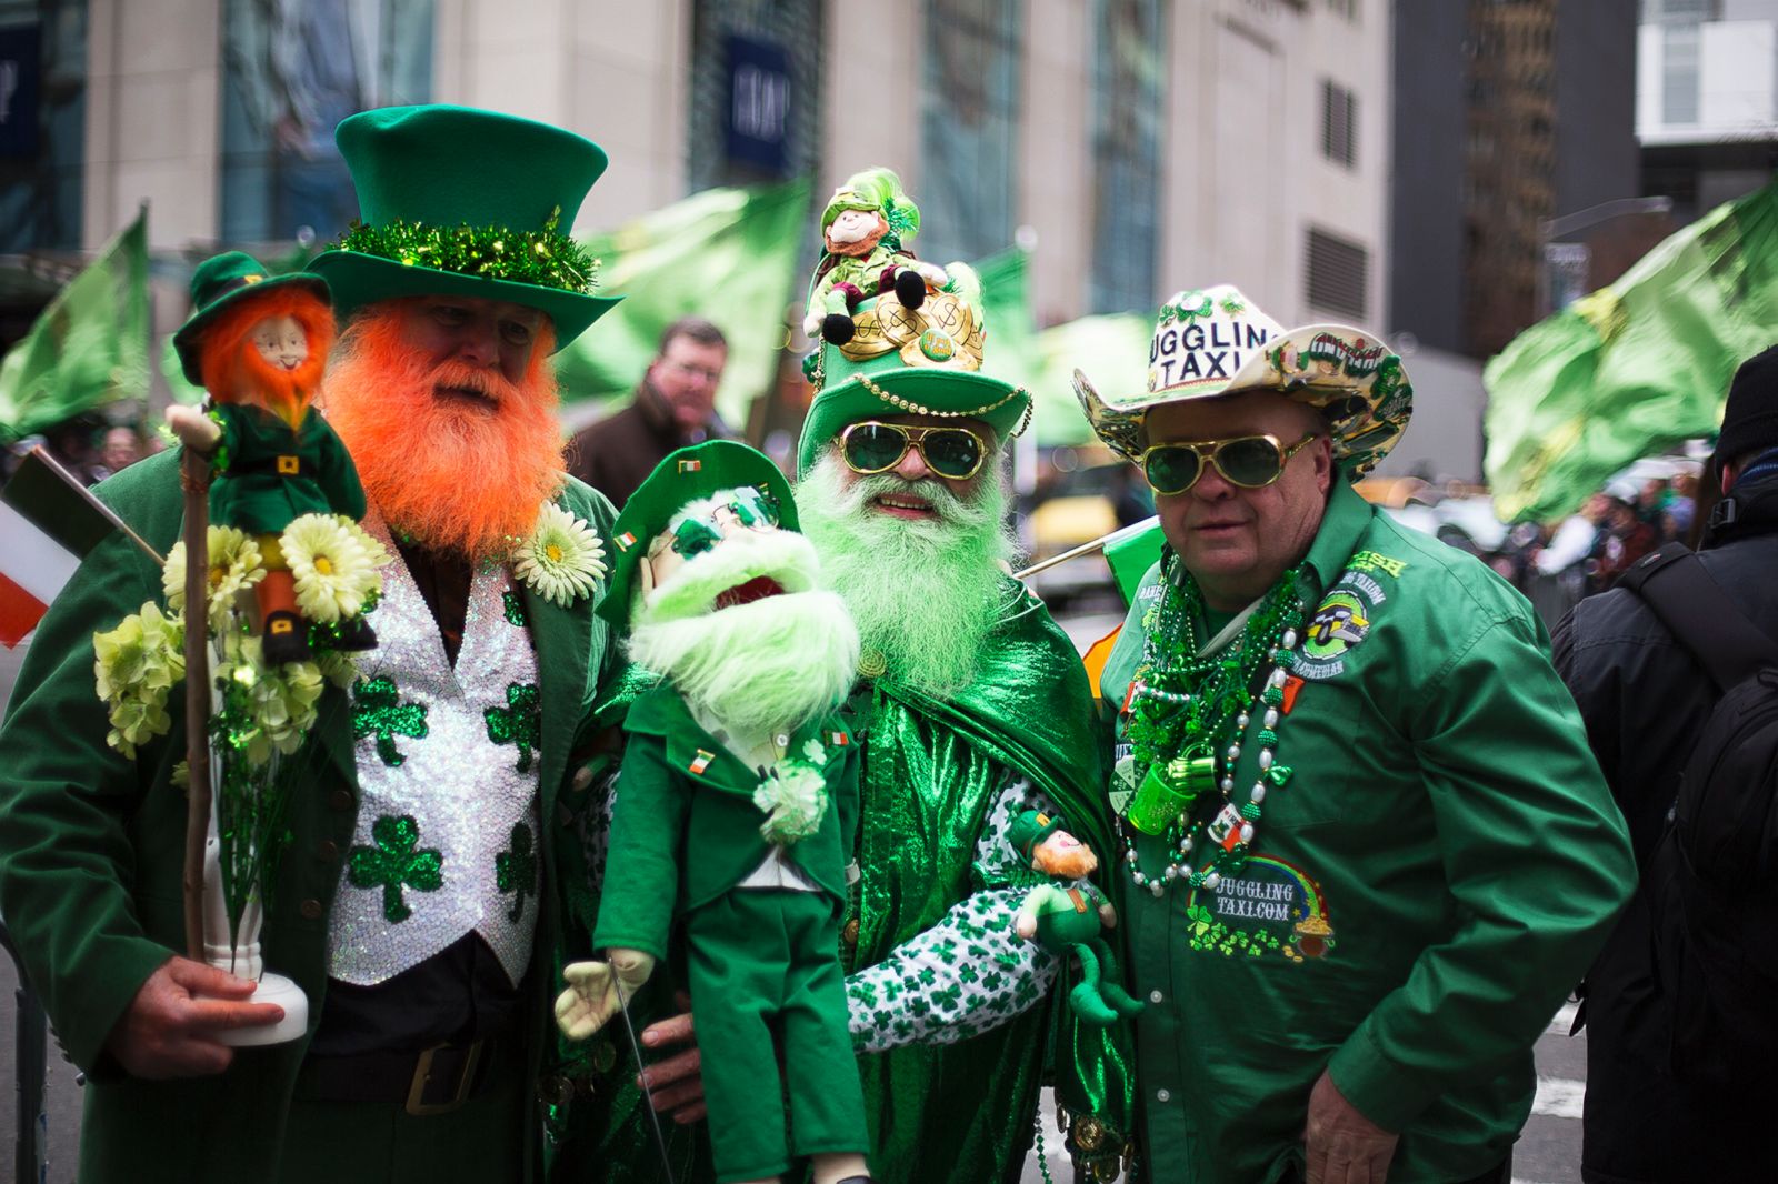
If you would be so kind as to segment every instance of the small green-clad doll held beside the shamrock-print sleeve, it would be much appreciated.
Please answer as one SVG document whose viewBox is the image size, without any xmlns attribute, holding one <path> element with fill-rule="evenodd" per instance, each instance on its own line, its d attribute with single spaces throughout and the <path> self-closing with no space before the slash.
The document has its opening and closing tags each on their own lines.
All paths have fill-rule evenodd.
<svg viewBox="0 0 1778 1184">
<path fill-rule="evenodd" d="M 1109 1028 L 1118 1017 L 1141 1013 L 1118 980 L 1117 956 L 1101 935 L 1117 926 L 1117 910 L 1090 876 L 1099 868 L 1093 850 L 1063 830 L 1061 816 L 1024 811 L 1006 832 L 1006 843 L 1033 871 L 1054 876 L 1038 884 L 1013 916 L 1013 932 L 1037 939 L 1056 955 L 1081 960 L 1081 981 L 1069 992 L 1069 1006 L 1081 1020 Z"/>
</svg>

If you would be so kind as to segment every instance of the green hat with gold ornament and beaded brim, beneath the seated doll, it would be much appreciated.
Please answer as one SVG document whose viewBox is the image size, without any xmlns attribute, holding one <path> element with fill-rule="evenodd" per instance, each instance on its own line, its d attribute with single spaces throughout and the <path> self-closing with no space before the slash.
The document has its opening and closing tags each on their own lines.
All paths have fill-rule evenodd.
<svg viewBox="0 0 1778 1184">
<path fill-rule="evenodd" d="M 932 292 L 917 309 L 885 292 L 853 309 L 852 341 L 818 343 L 813 366 L 805 363 L 814 402 L 797 446 L 798 476 L 848 423 L 875 416 L 981 420 L 1001 441 L 1029 423 L 1029 391 L 978 373 L 987 329 L 974 274 L 962 263 L 946 270 L 960 281 L 957 292 Z"/>
</svg>

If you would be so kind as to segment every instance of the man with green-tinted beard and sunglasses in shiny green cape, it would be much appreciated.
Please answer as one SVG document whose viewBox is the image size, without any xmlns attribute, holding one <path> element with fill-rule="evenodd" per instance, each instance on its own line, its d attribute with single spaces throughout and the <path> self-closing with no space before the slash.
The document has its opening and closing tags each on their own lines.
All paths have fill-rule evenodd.
<svg viewBox="0 0 1778 1184">
<path fill-rule="evenodd" d="M 981 373 L 978 284 L 946 270 L 953 292 L 910 309 L 882 290 L 846 343 L 818 343 L 797 508 L 864 651 L 843 711 L 861 823 L 841 951 L 871 1170 L 980 1184 L 1021 1175 L 1058 969 L 1013 932 L 1029 871 L 1006 836 L 1028 809 L 1060 809 L 1106 853 L 1109 832 L 1085 670 L 1005 567 L 1003 457 L 1031 400 Z M 1102 1122 L 1122 1061 L 1099 1035 L 1069 1047 L 1065 1102 Z M 688 1056 L 660 1067 L 658 1104 L 695 1106 Z M 1115 1163 L 1122 1140 L 1101 1141 Z"/>
</svg>

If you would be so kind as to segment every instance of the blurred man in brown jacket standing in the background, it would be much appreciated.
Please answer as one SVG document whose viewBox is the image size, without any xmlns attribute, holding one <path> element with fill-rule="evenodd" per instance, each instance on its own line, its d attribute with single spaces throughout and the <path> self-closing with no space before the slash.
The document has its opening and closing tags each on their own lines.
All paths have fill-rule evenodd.
<svg viewBox="0 0 1778 1184">
<path fill-rule="evenodd" d="M 717 388 L 727 361 L 729 343 L 702 316 L 667 325 L 629 405 L 569 441 L 569 471 L 624 508 L 667 453 L 733 436 L 717 416 Z"/>
</svg>

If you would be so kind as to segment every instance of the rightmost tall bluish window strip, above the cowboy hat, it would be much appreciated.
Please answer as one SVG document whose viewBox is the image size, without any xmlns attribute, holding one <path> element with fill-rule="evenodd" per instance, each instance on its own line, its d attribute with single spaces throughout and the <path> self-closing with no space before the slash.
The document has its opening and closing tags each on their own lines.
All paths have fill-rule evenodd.
<svg viewBox="0 0 1778 1184">
<path fill-rule="evenodd" d="M 1093 263 L 1095 313 L 1149 311 L 1161 240 L 1161 117 L 1166 85 L 1165 5 L 1095 0 Z"/>
</svg>

